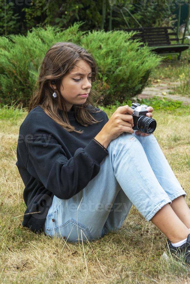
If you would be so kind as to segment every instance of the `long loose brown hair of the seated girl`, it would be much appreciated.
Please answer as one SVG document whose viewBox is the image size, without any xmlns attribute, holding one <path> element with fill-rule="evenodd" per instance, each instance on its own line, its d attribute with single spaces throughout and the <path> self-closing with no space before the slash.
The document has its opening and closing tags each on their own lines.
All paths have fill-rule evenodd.
<svg viewBox="0 0 190 284">
<path fill-rule="evenodd" d="M 40 105 L 51 119 L 68 132 L 75 131 L 77 133 L 83 133 L 83 131 L 77 131 L 74 126 L 70 125 L 65 101 L 60 93 L 60 84 L 63 77 L 68 74 L 74 68 L 76 62 L 81 59 L 90 65 L 92 69 L 92 82 L 94 82 L 96 80 L 97 66 L 93 56 L 89 54 L 87 50 L 69 42 L 58 42 L 53 45 L 47 51 L 40 66 L 39 78 L 30 99 L 28 112 L 37 105 Z M 55 99 L 52 95 L 54 90 L 52 89 L 51 81 L 55 81 L 56 94 L 60 99 L 63 117 L 60 116 L 58 111 L 58 97 Z M 89 107 L 92 111 L 92 106 L 94 107 L 93 112 L 101 112 L 101 110 L 96 110 L 95 105 L 98 100 L 95 102 L 95 99 L 98 99 L 98 94 L 91 89 L 85 103 L 73 105 L 75 119 L 83 126 L 100 122 L 89 112 Z"/>
</svg>

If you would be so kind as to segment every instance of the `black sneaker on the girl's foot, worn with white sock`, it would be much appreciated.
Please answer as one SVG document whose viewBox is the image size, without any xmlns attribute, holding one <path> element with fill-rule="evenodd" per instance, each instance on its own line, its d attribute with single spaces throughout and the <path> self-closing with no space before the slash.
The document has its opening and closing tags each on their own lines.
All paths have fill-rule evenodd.
<svg viewBox="0 0 190 284">
<path fill-rule="evenodd" d="M 172 254 L 175 254 L 176 256 L 183 255 L 184 261 L 190 265 L 190 234 L 187 236 L 186 243 L 180 245 L 180 247 L 174 247 L 171 244 L 171 241 L 167 239 L 166 249 L 168 249 Z"/>
</svg>

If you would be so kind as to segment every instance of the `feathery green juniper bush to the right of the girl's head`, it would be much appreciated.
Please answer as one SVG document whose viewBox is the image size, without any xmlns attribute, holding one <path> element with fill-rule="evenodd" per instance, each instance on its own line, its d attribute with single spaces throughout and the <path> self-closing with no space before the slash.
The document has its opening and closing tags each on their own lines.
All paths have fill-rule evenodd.
<svg viewBox="0 0 190 284">
<path fill-rule="evenodd" d="M 120 103 L 141 93 L 161 58 L 124 31 L 92 31 L 81 39 L 98 65 L 96 89 L 103 91 L 103 104 Z"/>
</svg>

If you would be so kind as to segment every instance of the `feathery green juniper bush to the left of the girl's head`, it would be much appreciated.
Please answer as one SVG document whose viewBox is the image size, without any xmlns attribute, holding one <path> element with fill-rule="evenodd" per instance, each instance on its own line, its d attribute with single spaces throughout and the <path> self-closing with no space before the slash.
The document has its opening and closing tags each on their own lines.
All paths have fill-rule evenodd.
<svg viewBox="0 0 190 284">
<path fill-rule="evenodd" d="M 26 37 L 0 37 L 0 103 L 17 101 L 26 107 L 47 50 L 59 41 L 78 43 L 83 34 L 78 30 L 80 25 L 76 23 L 67 30 L 47 26 L 33 29 Z"/>
</svg>

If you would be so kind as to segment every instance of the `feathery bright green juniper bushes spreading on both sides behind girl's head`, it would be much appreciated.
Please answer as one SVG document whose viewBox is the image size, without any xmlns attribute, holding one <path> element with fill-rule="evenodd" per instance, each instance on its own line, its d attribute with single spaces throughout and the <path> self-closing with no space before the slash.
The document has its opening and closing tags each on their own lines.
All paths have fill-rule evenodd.
<svg viewBox="0 0 190 284">
<path fill-rule="evenodd" d="M 87 49 L 98 65 L 92 88 L 100 92 L 100 103 L 122 103 L 140 93 L 150 72 L 160 61 L 145 46 L 132 41 L 124 31 L 82 32 L 77 22 L 68 29 L 51 26 L 33 28 L 27 36 L 0 37 L 0 103 L 28 106 L 38 69 L 47 50 L 56 42 L 70 41 Z"/>
</svg>

